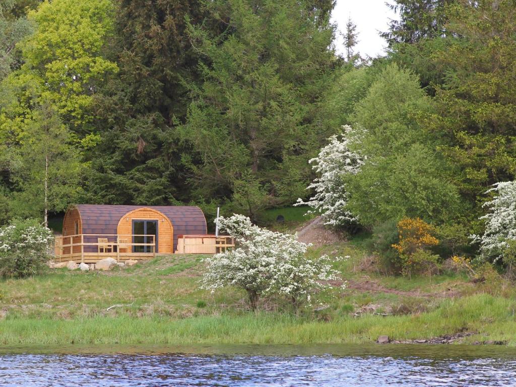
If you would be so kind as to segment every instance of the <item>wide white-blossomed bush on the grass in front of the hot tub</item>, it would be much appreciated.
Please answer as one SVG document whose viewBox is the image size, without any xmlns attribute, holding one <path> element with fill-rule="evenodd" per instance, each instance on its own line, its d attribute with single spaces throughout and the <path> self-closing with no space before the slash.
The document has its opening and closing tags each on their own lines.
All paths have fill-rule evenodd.
<svg viewBox="0 0 516 387">
<path fill-rule="evenodd" d="M 219 218 L 218 225 L 235 238 L 238 247 L 205 259 L 203 289 L 244 289 L 252 309 L 260 297 L 271 295 L 285 296 L 297 308 L 310 304 L 314 293 L 330 288 L 328 281 L 337 278 L 330 258 L 307 258 L 309 245 L 297 241 L 297 235 L 255 226 L 244 215 Z"/>
</svg>

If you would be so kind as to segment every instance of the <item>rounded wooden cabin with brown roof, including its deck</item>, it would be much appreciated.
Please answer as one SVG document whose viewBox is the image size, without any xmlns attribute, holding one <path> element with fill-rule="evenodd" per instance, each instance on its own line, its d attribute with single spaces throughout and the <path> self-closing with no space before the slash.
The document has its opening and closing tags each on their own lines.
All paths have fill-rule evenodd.
<svg viewBox="0 0 516 387">
<path fill-rule="evenodd" d="M 231 245 L 228 238 L 207 235 L 204 213 L 195 206 L 80 204 L 65 214 L 56 260 L 92 263 L 107 256 L 126 260 L 174 252 L 214 254 Z"/>
</svg>

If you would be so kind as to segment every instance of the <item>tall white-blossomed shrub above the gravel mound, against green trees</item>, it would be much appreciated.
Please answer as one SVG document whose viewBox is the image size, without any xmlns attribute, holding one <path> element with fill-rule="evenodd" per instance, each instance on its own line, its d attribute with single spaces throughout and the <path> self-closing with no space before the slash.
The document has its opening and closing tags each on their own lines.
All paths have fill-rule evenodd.
<svg viewBox="0 0 516 387">
<path fill-rule="evenodd" d="M 319 213 L 326 225 L 342 227 L 357 221 L 357 217 L 346 210 L 348 192 L 343 177 L 356 175 L 364 164 L 359 154 L 349 150 L 351 127 L 346 125 L 343 135 L 331 136 L 329 144 L 322 148 L 318 156 L 309 161 L 319 175 L 307 189 L 315 194 L 307 202 L 297 199 L 295 206 L 310 206 L 307 213 Z"/>
</svg>

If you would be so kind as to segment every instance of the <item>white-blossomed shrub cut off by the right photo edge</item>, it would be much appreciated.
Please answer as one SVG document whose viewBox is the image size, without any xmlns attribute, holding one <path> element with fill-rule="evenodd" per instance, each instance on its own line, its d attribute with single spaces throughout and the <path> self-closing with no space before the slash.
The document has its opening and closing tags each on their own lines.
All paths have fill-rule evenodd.
<svg viewBox="0 0 516 387">
<path fill-rule="evenodd" d="M 516 240 L 516 182 L 506 181 L 494 184 L 487 191 L 496 192 L 492 200 L 483 204 L 489 212 L 481 216 L 485 222 L 483 235 L 472 235 L 480 243 L 480 253 L 485 258 L 498 260 L 509 247 L 510 240 Z"/>
</svg>

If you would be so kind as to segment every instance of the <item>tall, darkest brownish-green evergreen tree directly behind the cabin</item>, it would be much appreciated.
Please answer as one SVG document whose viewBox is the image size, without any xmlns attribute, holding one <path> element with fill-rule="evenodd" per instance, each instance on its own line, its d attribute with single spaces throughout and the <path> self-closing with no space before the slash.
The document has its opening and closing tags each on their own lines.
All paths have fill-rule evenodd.
<svg viewBox="0 0 516 387">
<path fill-rule="evenodd" d="M 199 53 L 186 20 L 201 23 L 199 1 L 122 0 L 117 39 L 109 45 L 120 71 L 96 99 L 103 128 L 93 152 L 90 200 L 168 204 L 188 200 L 175 126 L 184 121 L 186 84 L 195 84 Z M 206 28 L 219 28 L 217 25 Z"/>
</svg>

